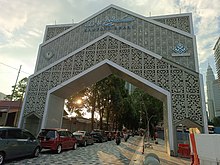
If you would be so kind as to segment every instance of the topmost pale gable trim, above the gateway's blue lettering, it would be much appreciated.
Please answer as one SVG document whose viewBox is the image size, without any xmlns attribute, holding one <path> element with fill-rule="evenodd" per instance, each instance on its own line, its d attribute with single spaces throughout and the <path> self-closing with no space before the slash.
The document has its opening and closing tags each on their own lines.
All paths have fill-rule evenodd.
<svg viewBox="0 0 220 165">
<path fill-rule="evenodd" d="M 62 35 L 68 33 L 69 31 L 75 29 L 76 27 L 82 25 L 83 23 L 89 21 L 90 19 L 92 19 L 92 18 L 98 16 L 99 14 L 103 13 L 104 11 L 106 11 L 106 10 L 108 10 L 108 9 L 110 9 L 110 8 L 114 8 L 114 9 L 120 10 L 120 11 L 125 12 L 125 13 L 127 13 L 127 14 L 133 15 L 133 16 L 135 16 L 135 17 L 137 17 L 137 18 L 143 19 L 143 20 L 145 20 L 145 21 L 147 21 L 147 22 L 151 22 L 151 23 L 153 23 L 153 24 L 155 24 L 155 25 L 158 25 L 158 26 L 161 26 L 161 27 L 163 27 L 163 28 L 166 28 L 166 29 L 175 31 L 175 32 L 177 32 L 177 33 L 180 33 L 180 34 L 182 34 L 182 35 L 188 36 L 188 37 L 190 37 L 190 38 L 193 38 L 193 37 L 194 37 L 194 35 L 192 35 L 192 34 L 190 34 L 190 33 L 184 32 L 184 31 L 182 31 L 182 30 L 179 30 L 179 29 L 176 29 L 176 28 L 174 28 L 174 27 L 165 25 L 165 24 L 160 23 L 160 22 L 158 22 L 158 21 L 152 20 L 152 19 L 147 18 L 147 17 L 145 17 L 145 16 L 142 16 L 142 15 L 140 15 L 140 14 L 134 13 L 134 12 L 129 11 L 129 10 L 127 10 L 127 9 L 124 9 L 124 8 L 121 8 L 121 7 L 118 7 L 118 6 L 116 6 L 116 5 L 111 4 L 111 5 L 107 6 L 107 7 L 105 7 L 104 9 L 98 11 L 97 13 L 91 15 L 90 17 L 84 19 L 83 21 L 79 22 L 76 26 L 73 26 L 73 27 L 67 29 L 66 31 L 60 33 L 59 35 L 57 35 L 57 36 L 55 36 L 55 37 L 53 37 L 53 38 L 47 40 L 46 42 L 40 44 L 40 47 L 42 47 L 43 45 L 46 45 L 46 44 L 50 43 L 51 41 L 53 41 L 53 40 L 55 40 L 55 39 L 61 37 Z"/>
</svg>

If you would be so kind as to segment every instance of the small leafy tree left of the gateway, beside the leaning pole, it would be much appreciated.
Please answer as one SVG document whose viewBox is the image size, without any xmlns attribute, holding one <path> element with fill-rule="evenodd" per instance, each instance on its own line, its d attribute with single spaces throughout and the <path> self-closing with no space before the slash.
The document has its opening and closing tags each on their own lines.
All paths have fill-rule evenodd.
<svg viewBox="0 0 220 165">
<path fill-rule="evenodd" d="M 12 86 L 12 94 L 6 95 L 5 100 L 18 101 L 24 99 L 24 93 L 27 87 L 28 78 L 20 80 L 15 86 Z"/>
</svg>

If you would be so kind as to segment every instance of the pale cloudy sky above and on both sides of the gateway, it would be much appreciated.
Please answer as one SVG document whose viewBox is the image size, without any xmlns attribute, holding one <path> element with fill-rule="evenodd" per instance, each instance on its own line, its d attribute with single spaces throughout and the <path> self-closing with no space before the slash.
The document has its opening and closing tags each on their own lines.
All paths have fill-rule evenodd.
<svg viewBox="0 0 220 165">
<path fill-rule="evenodd" d="M 110 4 L 146 17 L 192 13 L 204 84 L 208 64 L 216 75 L 219 0 L 0 0 L 0 92 L 11 94 L 16 79 L 34 73 L 46 25 L 78 23 Z"/>
</svg>

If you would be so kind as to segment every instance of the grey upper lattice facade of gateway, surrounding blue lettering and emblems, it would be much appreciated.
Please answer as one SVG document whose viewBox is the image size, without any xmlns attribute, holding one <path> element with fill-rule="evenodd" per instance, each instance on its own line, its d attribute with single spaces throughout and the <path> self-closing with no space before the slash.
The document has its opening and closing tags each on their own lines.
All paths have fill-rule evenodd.
<svg viewBox="0 0 220 165">
<path fill-rule="evenodd" d="M 133 21 L 129 23 L 118 21 L 114 23 L 115 26 L 104 28 L 100 28 L 97 25 L 112 18 L 122 19 L 125 17 L 131 18 Z M 174 28 L 161 26 L 162 24 L 160 22 L 163 25 L 166 24 L 165 26 L 169 25 L 169 27 L 178 28 L 183 33 L 180 33 Z M 79 23 L 79 26 L 74 25 L 62 34 L 58 33 L 63 32 L 64 29 L 61 27 L 49 28 L 45 36 L 46 39 L 53 37 L 55 34 L 59 34 L 60 37 L 54 37 L 41 45 L 36 70 L 39 71 L 56 62 L 106 32 L 115 34 L 181 66 L 196 70 L 194 40 L 191 33 L 189 33 L 189 27 L 189 16 L 153 20 L 146 17 L 134 16 L 132 13 L 112 7 L 89 20 Z M 186 35 L 186 33 L 189 35 Z M 179 58 L 171 55 L 178 43 L 183 44 L 187 48 L 187 53 L 190 56 Z M 45 54 L 48 52 L 53 54 L 53 58 L 49 60 L 45 58 Z"/>
</svg>

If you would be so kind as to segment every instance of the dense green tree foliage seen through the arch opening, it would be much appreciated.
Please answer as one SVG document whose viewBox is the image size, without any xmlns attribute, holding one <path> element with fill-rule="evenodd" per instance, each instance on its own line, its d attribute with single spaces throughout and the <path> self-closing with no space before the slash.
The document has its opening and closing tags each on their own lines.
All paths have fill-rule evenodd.
<svg viewBox="0 0 220 165">
<path fill-rule="evenodd" d="M 143 128 L 146 128 L 147 118 L 152 115 L 156 115 L 151 120 L 153 125 L 163 120 L 161 101 L 138 88 L 129 94 L 125 88 L 125 81 L 115 75 L 110 75 L 67 99 L 68 109 L 74 110 L 78 116 L 83 114 L 73 102 L 82 97 L 83 106 L 91 112 L 92 129 L 95 112 L 100 116 L 100 129 L 105 130 L 108 130 L 108 127 L 103 127 L 103 121 L 107 122 L 107 126 L 108 123 L 113 123 L 114 130 L 121 130 L 123 126 L 135 130 L 140 127 L 140 117 Z"/>
</svg>

